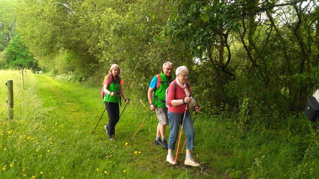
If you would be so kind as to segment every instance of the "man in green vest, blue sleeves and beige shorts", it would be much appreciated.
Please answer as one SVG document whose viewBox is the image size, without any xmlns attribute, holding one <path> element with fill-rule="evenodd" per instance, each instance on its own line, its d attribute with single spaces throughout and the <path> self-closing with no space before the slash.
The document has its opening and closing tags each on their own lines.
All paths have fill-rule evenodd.
<svg viewBox="0 0 319 179">
<path fill-rule="evenodd" d="M 166 125 L 169 125 L 167 117 L 167 107 L 165 105 L 165 90 L 169 87 L 170 82 L 173 81 L 173 78 L 171 76 L 172 72 L 173 64 L 168 61 L 165 62 L 162 67 L 162 72 L 153 77 L 148 91 L 150 108 L 152 111 L 156 111 L 156 115 L 159 119 L 154 144 L 160 144 L 164 149 L 167 148 L 167 142 L 165 138 Z"/>
</svg>

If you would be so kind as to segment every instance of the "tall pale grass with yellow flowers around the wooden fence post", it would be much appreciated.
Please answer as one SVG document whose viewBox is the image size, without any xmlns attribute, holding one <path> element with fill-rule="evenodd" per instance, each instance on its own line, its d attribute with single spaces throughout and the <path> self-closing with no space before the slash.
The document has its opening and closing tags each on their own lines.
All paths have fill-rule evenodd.
<svg viewBox="0 0 319 179">
<path fill-rule="evenodd" d="M 41 101 L 37 97 L 34 75 L 31 71 L 24 71 L 23 84 L 19 71 L 0 71 L 1 84 L 7 80 L 13 81 L 14 114 L 13 120 L 8 121 L 6 118 L 7 104 L 1 103 L 0 163 L 3 171 L 1 176 L 11 178 L 20 173 L 18 176 L 21 178 L 32 177 L 31 174 L 27 175 L 28 168 L 32 165 L 28 165 L 26 161 L 38 157 L 35 151 L 40 150 L 37 146 L 42 142 L 35 134 L 47 128 L 40 121 L 44 118 L 44 111 L 40 107 Z M 2 89 L 0 98 L 5 99 L 7 89 L 5 86 Z M 21 171 L 15 170 L 17 168 Z"/>
</svg>

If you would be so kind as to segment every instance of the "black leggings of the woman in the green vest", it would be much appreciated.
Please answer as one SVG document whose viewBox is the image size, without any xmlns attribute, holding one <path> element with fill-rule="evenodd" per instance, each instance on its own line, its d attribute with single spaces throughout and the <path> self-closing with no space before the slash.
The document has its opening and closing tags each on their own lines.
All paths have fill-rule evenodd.
<svg viewBox="0 0 319 179">
<path fill-rule="evenodd" d="M 108 105 L 107 101 L 104 101 L 106 110 L 108 111 L 109 115 L 109 123 L 106 125 L 106 128 L 109 130 L 109 137 L 113 138 L 115 135 L 115 125 L 120 120 L 120 106 L 119 103 L 110 102 Z"/>
</svg>

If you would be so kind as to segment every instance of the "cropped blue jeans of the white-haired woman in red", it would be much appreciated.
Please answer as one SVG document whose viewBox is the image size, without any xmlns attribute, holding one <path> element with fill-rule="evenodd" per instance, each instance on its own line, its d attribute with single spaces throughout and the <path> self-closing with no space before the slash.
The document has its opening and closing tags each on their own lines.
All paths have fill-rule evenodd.
<svg viewBox="0 0 319 179">
<path fill-rule="evenodd" d="M 168 149 L 174 150 L 179 135 L 179 125 L 183 123 L 184 113 L 167 112 L 169 121 Z M 183 131 L 186 135 L 186 149 L 194 150 L 195 130 L 189 112 L 185 114 Z M 183 145 L 183 144 L 179 144 Z"/>
</svg>

